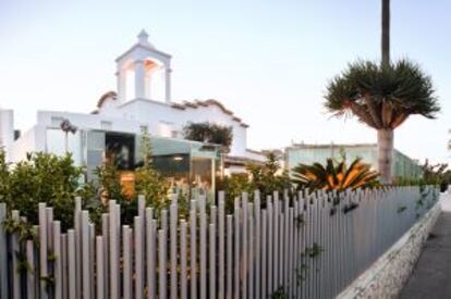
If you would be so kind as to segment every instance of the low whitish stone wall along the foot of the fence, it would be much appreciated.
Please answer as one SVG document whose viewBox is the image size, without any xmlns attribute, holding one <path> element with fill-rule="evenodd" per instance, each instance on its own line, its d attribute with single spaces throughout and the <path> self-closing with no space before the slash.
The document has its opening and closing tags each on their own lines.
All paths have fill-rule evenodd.
<svg viewBox="0 0 451 299">
<path fill-rule="evenodd" d="M 418 223 L 337 298 L 397 298 L 411 276 L 423 245 L 440 212 L 441 202 L 438 201 Z"/>
</svg>

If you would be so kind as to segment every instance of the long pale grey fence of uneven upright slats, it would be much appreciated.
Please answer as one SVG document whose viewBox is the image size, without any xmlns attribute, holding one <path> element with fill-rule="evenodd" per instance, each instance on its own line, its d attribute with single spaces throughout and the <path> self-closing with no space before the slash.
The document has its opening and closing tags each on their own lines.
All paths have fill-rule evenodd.
<svg viewBox="0 0 451 299">
<path fill-rule="evenodd" d="M 133 226 L 109 201 L 101 234 L 75 200 L 74 227 L 61 233 L 52 208 L 40 203 L 39 246 L 0 227 L 3 298 L 333 298 L 438 201 L 427 187 L 268 197 L 260 208 L 243 194 L 226 213 L 199 197 L 188 219 L 178 202 L 155 217 L 138 199 Z M 0 223 L 7 217 L 0 203 Z M 20 219 L 12 211 L 13 219 Z M 16 251 L 31 267 L 19 272 Z"/>
</svg>

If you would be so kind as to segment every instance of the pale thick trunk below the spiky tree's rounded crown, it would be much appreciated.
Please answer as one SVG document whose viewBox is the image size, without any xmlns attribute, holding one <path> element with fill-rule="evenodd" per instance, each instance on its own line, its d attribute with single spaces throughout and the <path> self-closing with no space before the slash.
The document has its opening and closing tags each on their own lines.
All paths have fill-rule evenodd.
<svg viewBox="0 0 451 299">
<path fill-rule="evenodd" d="M 382 184 L 392 183 L 392 164 L 393 164 L 393 130 L 390 128 L 378 129 L 377 132 L 377 151 L 380 180 Z"/>
</svg>

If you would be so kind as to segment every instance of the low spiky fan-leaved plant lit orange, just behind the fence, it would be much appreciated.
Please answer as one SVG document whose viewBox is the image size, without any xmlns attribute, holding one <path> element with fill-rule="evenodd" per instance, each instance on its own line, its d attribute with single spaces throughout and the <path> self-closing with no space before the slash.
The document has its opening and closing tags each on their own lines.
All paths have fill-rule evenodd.
<svg viewBox="0 0 451 299">
<path fill-rule="evenodd" d="M 326 165 L 320 163 L 298 164 L 293 169 L 292 176 L 292 182 L 298 189 L 308 188 L 310 190 L 356 189 L 379 184 L 379 174 L 373 171 L 369 164 L 362 162 L 361 158 L 355 159 L 349 167 L 345 158 L 340 162 L 327 159 Z"/>
</svg>

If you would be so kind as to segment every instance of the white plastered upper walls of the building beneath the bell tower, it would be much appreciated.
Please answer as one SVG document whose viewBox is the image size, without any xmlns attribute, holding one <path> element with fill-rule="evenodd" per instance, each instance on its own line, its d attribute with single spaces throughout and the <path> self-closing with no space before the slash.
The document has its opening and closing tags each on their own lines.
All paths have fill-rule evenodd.
<svg viewBox="0 0 451 299">
<path fill-rule="evenodd" d="M 49 146 L 46 142 L 46 129 L 59 128 L 65 119 L 82 130 L 99 129 L 139 134 L 142 127 L 147 126 L 150 135 L 178 138 L 183 138 L 183 127 L 190 122 L 217 123 L 232 127 L 233 140 L 230 155 L 243 158 L 255 155 L 246 150 L 246 127 L 215 104 L 181 110 L 163 102 L 135 99 L 118 109 L 110 103 L 106 109 L 100 109 L 98 114 L 39 111 L 37 125 L 14 142 L 13 161 L 24 159 L 27 151 L 52 151 L 54 145 L 52 149 L 46 148 Z M 173 136 L 173 132 L 178 135 Z"/>
</svg>

